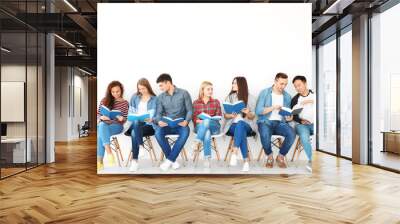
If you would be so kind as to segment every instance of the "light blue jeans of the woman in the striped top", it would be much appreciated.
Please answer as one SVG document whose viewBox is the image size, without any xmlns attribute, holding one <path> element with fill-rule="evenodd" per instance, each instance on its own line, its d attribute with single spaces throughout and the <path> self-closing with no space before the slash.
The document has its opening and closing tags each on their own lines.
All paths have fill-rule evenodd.
<svg viewBox="0 0 400 224">
<path fill-rule="evenodd" d="M 107 124 L 106 122 L 101 121 L 97 125 L 97 157 L 104 157 L 104 146 L 110 144 L 110 137 L 112 135 L 119 134 L 122 130 L 123 126 L 115 122 Z"/>
</svg>

